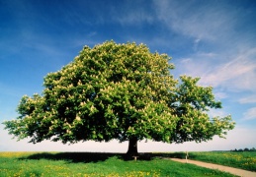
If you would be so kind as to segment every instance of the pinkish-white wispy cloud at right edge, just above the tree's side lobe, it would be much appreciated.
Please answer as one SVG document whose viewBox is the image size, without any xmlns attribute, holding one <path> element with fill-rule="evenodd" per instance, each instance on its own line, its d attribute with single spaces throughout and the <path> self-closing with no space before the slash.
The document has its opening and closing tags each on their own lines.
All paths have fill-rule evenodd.
<svg viewBox="0 0 256 177">
<path fill-rule="evenodd" d="M 202 55 L 180 59 L 180 73 L 200 76 L 200 84 L 231 91 L 256 90 L 256 48 L 232 56 L 220 54 Z"/>
</svg>

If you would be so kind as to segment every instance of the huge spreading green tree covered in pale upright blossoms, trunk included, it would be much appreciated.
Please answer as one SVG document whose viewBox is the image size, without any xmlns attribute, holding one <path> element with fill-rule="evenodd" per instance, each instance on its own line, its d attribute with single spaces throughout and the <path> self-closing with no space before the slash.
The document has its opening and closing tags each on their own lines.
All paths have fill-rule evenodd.
<svg viewBox="0 0 256 177">
<path fill-rule="evenodd" d="M 202 142 L 223 137 L 234 123 L 230 116 L 210 118 L 209 108 L 220 108 L 213 88 L 199 78 L 170 74 L 170 57 L 151 53 L 144 45 L 107 41 L 85 46 L 60 71 L 49 73 L 42 94 L 23 96 L 19 117 L 5 129 L 18 140 L 31 138 L 74 144 L 79 141 Z"/>
</svg>

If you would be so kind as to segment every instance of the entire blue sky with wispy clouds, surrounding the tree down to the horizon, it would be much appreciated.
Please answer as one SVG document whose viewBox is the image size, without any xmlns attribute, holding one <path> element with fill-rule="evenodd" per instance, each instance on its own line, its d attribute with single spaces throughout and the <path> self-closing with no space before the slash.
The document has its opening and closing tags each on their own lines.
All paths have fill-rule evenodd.
<svg viewBox="0 0 256 177">
<path fill-rule="evenodd" d="M 0 122 L 17 117 L 24 94 L 42 92 L 43 77 L 71 62 L 84 45 L 106 40 L 145 43 L 167 53 L 172 74 L 213 86 L 236 122 L 226 139 L 167 145 L 141 142 L 139 151 L 256 148 L 256 1 L 254 0 L 0 0 Z M 0 125 L 0 150 L 126 151 L 128 144 L 62 146 L 11 140 Z"/>
</svg>

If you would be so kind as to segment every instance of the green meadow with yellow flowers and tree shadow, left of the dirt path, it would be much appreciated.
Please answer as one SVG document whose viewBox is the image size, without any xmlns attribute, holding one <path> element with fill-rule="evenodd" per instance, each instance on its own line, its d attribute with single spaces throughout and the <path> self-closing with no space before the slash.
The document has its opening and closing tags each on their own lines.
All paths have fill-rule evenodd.
<svg viewBox="0 0 256 177">
<path fill-rule="evenodd" d="M 0 176 L 233 176 L 155 155 L 134 161 L 119 153 L 0 152 Z"/>
</svg>

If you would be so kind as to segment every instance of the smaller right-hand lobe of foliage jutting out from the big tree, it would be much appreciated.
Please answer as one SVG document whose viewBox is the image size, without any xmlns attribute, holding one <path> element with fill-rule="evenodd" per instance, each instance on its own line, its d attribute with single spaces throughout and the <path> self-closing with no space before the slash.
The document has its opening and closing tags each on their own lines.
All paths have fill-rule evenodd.
<svg viewBox="0 0 256 177">
<path fill-rule="evenodd" d="M 198 86 L 199 78 L 181 76 L 180 79 L 182 83 L 170 99 L 170 105 L 179 117 L 173 142 L 206 142 L 214 135 L 224 138 L 225 130 L 233 129 L 234 122 L 230 115 L 213 119 L 208 115 L 210 108 L 221 108 L 221 102 L 214 100 L 213 88 Z"/>
</svg>

